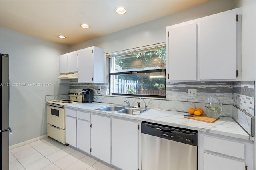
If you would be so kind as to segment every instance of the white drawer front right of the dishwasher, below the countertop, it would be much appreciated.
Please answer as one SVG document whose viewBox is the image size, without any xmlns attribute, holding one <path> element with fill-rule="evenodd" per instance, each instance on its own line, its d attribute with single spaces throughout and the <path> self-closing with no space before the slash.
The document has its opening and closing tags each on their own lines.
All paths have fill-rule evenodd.
<svg viewBox="0 0 256 170">
<path fill-rule="evenodd" d="M 245 158 L 245 144 L 204 136 L 204 149 L 236 158 Z"/>
</svg>

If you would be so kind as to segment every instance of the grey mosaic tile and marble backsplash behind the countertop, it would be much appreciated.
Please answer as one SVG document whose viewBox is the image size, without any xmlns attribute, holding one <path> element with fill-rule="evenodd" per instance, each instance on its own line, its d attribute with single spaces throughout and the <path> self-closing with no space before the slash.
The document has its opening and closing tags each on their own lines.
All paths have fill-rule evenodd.
<svg viewBox="0 0 256 170">
<path fill-rule="evenodd" d="M 204 107 L 206 99 L 217 97 L 224 105 L 222 116 L 230 116 L 240 124 L 248 134 L 254 136 L 254 81 L 228 81 L 228 82 L 180 82 L 166 83 L 166 100 L 146 99 L 151 108 L 167 109 L 172 111 L 185 111 L 189 107 Z M 94 91 L 94 101 L 103 103 L 123 104 L 122 96 L 108 95 L 108 83 L 82 83 L 70 84 L 70 91 L 82 91 L 90 88 Z M 189 97 L 188 89 L 196 89 L 197 96 Z M 129 97 L 136 105 L 137 98 Z"/>
</svg>

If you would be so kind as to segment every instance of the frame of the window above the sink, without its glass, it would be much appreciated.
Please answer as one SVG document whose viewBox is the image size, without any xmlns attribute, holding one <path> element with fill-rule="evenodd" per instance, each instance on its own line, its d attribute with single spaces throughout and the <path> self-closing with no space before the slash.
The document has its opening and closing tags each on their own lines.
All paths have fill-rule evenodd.
<svg viewBox="0 0 256 170">
<path fill-rule="evenodd" d="M 160 48 L 159 48 L 160 47 Z M 134 54 L 134 53 L 140 53 L 138 51 L 141 52 L 145 52 L 145 51 L 154 51 L 156 49 L 163 49 L 166 48 L 166 43 L 158 43 L 158 44 L 154 44 L 154 45 L 147 45 L 144 47 L 139 47 L 139 48 L 134 48 L 134 49 L 127 49 L 127 50 L 123 50 L 123 51 L 117 51 L 117 52 L 113 52 L 113 53 L 107 53 L 106 54 L 106 58 L 108 59 L 108 90 L 109 90 L 109 95 L 117 95 L 117 96 L 130 96 L 130 97 L 152 97 L 152 98 L 166 98 L 166 69 L 154 69 L 154 70 L 138 70 L 138 71 L 124 71 L 124 72 L 114 72 L 111 73 L 111 58 L 114 57 L 121 57 L 124 55 L 130 55 L 130 54 Z M 151 50 L 148 50 L 151 49 Z M 166 63 L 165 63 L 166 64 Z M 164 85 L 165 85 L 165 95 L 146 95 L 146 94 L 126 94 L 126 93 L 110 93 L 110 80 L 111 80 L 111 76 L 112 75 L 124 75 L 124 74 L 140 74 L 140 73 L 157 73 L 157 72 L 164 72 Z"/>
</svg>

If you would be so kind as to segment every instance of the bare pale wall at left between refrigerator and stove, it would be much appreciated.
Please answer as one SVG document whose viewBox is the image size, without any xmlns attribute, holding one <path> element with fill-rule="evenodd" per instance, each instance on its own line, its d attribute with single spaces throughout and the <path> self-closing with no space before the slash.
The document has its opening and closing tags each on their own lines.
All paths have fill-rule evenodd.
<svg viewBox="0 0 256 170">
<path fill-rule="evenodd" d="M 48 87 L 10 86 L 9 145 L 46 134 L 46 95 L 68 94 L 58 84 L 58 55 L 70 47 L 0 28 L 0 53 L 9 54 L 10 83 L 50 83 Z"/>
</svg>

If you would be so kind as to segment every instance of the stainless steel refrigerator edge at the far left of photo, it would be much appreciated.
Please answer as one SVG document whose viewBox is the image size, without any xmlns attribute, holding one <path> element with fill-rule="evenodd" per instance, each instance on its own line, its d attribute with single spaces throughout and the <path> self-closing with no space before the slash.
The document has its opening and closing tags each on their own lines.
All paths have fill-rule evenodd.
<svg viewBox="0 0 256 170">
<path fill-rule="evenodd" d="M 9 169 L 9 55 L 0 54 L 0 169 Z"/>
</svg>

